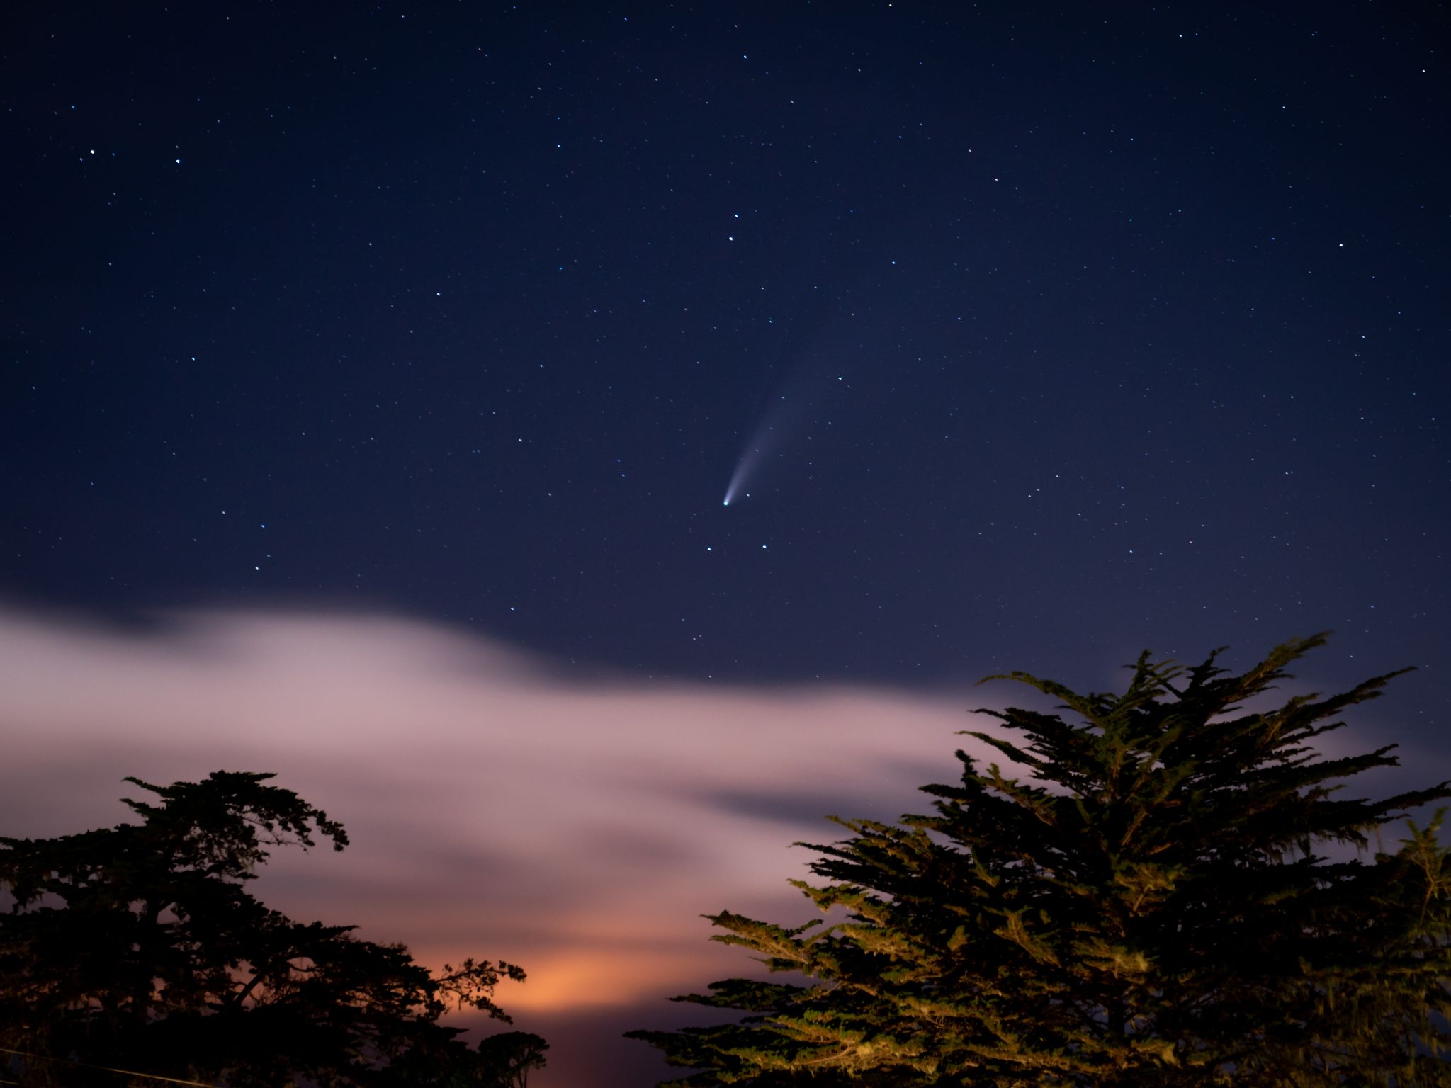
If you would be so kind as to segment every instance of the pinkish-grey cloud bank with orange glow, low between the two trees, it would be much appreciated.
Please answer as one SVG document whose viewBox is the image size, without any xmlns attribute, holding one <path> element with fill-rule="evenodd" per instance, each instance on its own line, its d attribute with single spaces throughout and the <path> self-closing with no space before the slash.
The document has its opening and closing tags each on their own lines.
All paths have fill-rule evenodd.
<svg viewBox="0 0 1451 1088">
<path fill-rule="evenodd" d="M 0 833 L 118 823 L 125 775 L 279 772 L 353 846 L 279 853 L 258 892 L 425 962 L 524 965 L 499 1000 L 525 1027 L 747 969 L 699 915 L 804 920 L 785 882 L 810 853 L 791 841 L 834 837 L 827 812 L 921 811 L 981 702 L 577 682 L 447 627 L 299 611 L 129 628 L 0 612 Z"/>
</svg>

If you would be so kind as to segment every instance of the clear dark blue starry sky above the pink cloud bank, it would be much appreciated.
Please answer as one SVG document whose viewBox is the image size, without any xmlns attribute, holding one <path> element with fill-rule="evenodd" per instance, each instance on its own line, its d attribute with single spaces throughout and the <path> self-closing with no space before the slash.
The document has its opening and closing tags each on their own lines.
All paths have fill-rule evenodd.
<svg viewBox="0 0 1451 1088">
<path fill-rule="evenodd" d="M 1436 744 L 1447 30 L 12 6 L 0 601 L 907 689 L 1333 628 Z"/>
</svg>

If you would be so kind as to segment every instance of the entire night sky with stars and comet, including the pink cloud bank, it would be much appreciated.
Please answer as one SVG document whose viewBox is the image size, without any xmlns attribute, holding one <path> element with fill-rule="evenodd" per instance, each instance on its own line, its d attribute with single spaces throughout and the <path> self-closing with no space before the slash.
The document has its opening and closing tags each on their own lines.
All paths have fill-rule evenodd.
<svg viewBox="0 0 1451 1088">
<path fill-rule="evenodd" d="M 360 859 L 280 902 L 615 1088 L 985 673 L 1331 628 L 1444 760 L 1444 4 L 0 20 L 20 833 L 279 770 Z"/>
</svg>

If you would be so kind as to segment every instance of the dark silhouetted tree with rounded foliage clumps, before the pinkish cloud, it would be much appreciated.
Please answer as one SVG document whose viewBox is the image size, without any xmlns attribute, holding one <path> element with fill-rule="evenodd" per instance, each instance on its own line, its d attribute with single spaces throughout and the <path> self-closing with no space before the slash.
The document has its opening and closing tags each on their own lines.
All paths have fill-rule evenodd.
<svg viewBox="0 0 1451 1088">
<path fill-rule="evenodd" d="M 0 838 L 10 899 L 0 914 L 0 1047 L 22 1055 L 22 1079 L 71 1084 L 102 1068 L 232 1085 L 492 1088 L 482 1058 L 438 1018 L 454 1005 L 508 1021 L 493 988 L 524 972 L 466 959 L 434 973 L 402 944 L 264 907 L 247 882 L 270 847 L 348 841 L 271 778 L 132 778 L 155 795 L 125 799 L 139 823 Z"/>
</svg>

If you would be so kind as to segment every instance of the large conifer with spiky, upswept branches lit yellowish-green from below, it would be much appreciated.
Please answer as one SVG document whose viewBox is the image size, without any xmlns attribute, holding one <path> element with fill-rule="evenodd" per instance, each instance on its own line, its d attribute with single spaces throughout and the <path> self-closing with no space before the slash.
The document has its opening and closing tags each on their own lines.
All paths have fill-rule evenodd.
<svg viewBox="0 0 1451 1088">
<path fill-rule="evenodd" d="M 961 785 L 924 788 L 932 815 L 837 820 L 850 837 L 811 846 L 824 883 L 795 882 L 830 924 L 708 915 L 714 940 L 805 985 L 715 982 L 675 1000 L 737 1023 L 631 1036 L 698 1088 L 1451 1085 L 1441 815 L 1367 857 L 1451 789 L 1341 799 L 1394 746 L 1312 747 L 1399 673 L 1244 708 L 1323 641 L 1239 676 L 1145 653 L 1122 695 L 988 677 L 1069 720 L 984 711 L 1016 735 L 969 735 L 1022 772 L 959 751 Z"/>
</svg>

